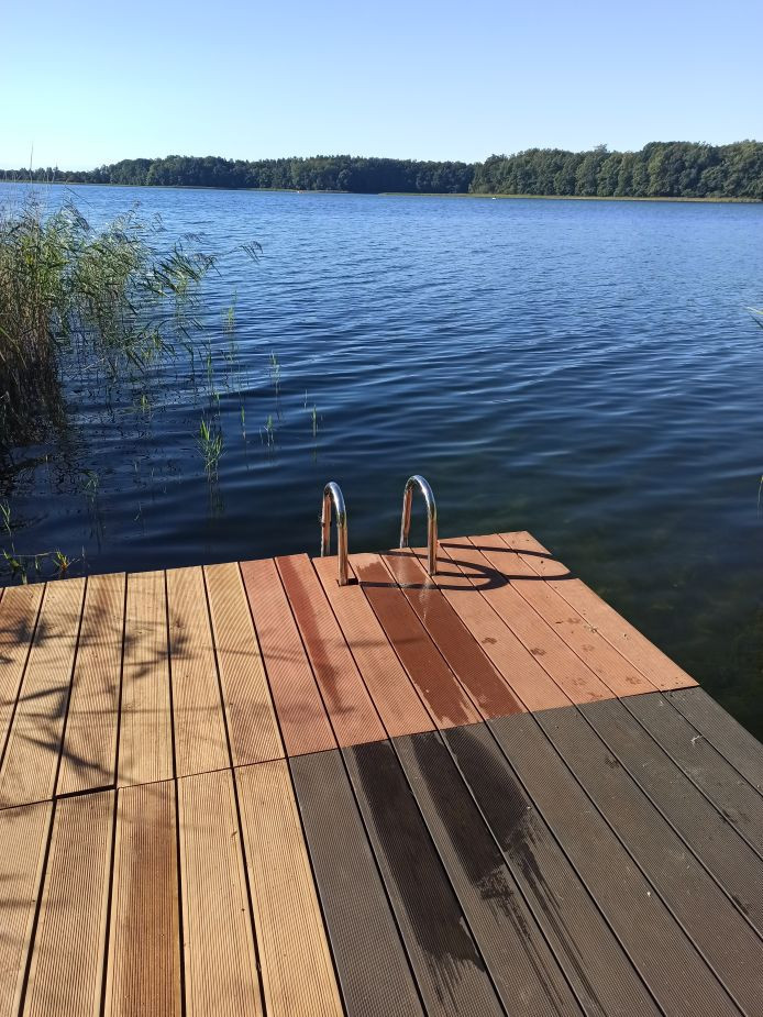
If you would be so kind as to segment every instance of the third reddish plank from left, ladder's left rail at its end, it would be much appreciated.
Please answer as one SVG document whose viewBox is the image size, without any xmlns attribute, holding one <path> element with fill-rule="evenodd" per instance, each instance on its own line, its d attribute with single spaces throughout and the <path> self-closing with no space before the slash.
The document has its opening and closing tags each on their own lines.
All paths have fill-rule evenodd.
<svg viewBox="0 0 763 1017">
<path fill-rule="evenodd" d="M 335 559 L 312 564 L 389 737 L 433 731 L 427 707 L 361 587 L 339 586 Z"/>
</svg>

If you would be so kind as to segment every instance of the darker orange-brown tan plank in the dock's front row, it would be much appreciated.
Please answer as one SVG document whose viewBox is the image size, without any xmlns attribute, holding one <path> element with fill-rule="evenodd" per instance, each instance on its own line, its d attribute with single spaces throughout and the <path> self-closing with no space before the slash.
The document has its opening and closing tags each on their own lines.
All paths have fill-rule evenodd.
<svg viewBox="0 0 763 1017">
<path fill-rule="evenodd" d="M 111 900 L 107 1017 L 179 1017 L 173 781 L 120 791 Z"/>
</svg>

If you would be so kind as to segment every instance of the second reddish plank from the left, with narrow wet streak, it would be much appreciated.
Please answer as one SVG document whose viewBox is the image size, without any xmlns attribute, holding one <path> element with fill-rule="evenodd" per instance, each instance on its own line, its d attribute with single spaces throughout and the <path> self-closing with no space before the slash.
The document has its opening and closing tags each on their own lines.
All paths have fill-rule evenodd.
<svg viewBox="0 0 763 1017">
<path fill-rule="evenodd" d="M 276 565 L 340 748 L 383 740 L 387 732 L 307 554 Z"/>
</svg>

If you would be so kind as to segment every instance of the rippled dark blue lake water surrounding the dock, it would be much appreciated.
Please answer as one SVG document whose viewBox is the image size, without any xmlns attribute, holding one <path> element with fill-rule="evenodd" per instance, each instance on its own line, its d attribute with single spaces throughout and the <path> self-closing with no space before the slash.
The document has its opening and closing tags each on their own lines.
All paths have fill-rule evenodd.
<svg viewBox="0 0 763 1017">
<path fill-rule="evenodd" d="M 97 222 L 137 201 L 170 234 L 263 257 L 234 253 L 206 284 L 211 376 L 176 364 L 142 404 L 78 385 L 65 440 L 18 452 L 0 494 L 19 551 L 88 572 L 314 553 L 329 479 L 351 551 L 379 550 L 418 472 L 444 535 L 531 530 L 763 733 L 763 330 L 747 310 L 763 206 L 70 194 Z M 218 408 L 210 484 L 197 439 Z"/>
</svg>

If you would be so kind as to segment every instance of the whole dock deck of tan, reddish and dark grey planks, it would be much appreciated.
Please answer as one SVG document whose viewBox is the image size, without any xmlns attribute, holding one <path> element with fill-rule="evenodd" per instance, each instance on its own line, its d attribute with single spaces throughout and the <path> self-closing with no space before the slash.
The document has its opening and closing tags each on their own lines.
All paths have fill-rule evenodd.
<svg viewBox="0 0 763 1017">
<path fill-rule="evenodd" d="M 0 592 L 0 1017 L 763 1014 L 761 745 L 529 533 L 440 554 Z"/>
</svg>

